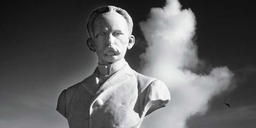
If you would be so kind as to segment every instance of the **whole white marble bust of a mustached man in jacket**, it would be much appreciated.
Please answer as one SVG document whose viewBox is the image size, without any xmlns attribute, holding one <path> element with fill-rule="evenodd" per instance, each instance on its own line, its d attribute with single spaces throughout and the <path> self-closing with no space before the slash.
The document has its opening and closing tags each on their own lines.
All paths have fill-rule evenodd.
<svg viewBox="0 0 256 128">
<path fill-rule="evenodd" d="M 61 92 L 57 111 L 70 128 L 140 128 L 145 116 L 168 103 L 170 92 L 125 61 L 135 43 L 130 15 L 119 7 L 101 7 L 90 15 L 87 29 L 87 45 L 96 52 L 98 67 Z"/>
</svg>

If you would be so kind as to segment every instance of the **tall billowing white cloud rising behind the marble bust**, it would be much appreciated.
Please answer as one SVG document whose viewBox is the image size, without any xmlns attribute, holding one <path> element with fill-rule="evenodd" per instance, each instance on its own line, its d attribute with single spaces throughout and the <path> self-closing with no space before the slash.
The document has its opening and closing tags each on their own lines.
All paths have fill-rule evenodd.
<svg viewBox="0 0 256 128">
<path fill-rule="evenodd" d="M 233 73 L 226 66 L 205 74 L 191 71 L 200 68 L 202 62 L 192 40 L 196 17 L 190 9 L 181 10 L 178 0 L 167 0 L 163 8 L 152 8 L 140 26 L 148 42 L 141 55 L 142 72 L 165 82 L 171 92 L 169 104 L 150 114 L 141 128 L 186 128 L 190 116 L 204 114 L 208 101 L 228 89 Z"/>
</svg>

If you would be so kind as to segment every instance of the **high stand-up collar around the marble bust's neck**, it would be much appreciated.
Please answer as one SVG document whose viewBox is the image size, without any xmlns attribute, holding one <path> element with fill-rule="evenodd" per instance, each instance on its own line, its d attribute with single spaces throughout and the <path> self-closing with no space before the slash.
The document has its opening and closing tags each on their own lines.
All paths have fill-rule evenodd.
<svg viewBox="0 0 256 128">
<path fill-rule="evenodd" d="M 101 65 L 98 63 L 98 73 L 100 75 L 112 75 L 113 73 L 123 68 L 126 63 L 127 62 L 125 61 L 125 59 L 118 60 L 110 65 Z"/>
</svg>

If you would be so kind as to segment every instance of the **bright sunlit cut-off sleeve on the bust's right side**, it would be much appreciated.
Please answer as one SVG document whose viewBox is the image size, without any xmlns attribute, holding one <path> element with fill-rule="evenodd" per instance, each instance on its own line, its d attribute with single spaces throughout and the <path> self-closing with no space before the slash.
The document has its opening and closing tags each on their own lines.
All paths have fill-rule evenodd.
<svg viewBox="0 0 256 128">
<path fill-rule="evenodd" d="M 171 99 L 170 92 L 162 81 L 155 80 L 148 86 L 144 102 L 144 112 L 146 112 L 145 116 L 166 106 L 168 101 Z"/>
</svg>

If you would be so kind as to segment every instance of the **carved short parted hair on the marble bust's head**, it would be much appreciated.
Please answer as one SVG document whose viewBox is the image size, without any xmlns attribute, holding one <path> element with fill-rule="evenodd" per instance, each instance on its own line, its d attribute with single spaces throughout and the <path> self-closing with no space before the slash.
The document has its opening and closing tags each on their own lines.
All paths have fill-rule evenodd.
<svg viewBox="0 0 256 128">
<path fill-rule="evenodd" d="M 133 20 L 131 18 L 131 16 L 128 14 L 128 12 L 126 12 L 125 10 L 119 8 L 119 7 L 115 7 L 115 6 L 105 6 L 105 7 L 100 7 L 97 10 L 93 11 L 93 13 L 90 15 L 88 22 L 87 22 L 87 31 L 88 34 L 90 36 L 90 38 L 93 38 L 93 22 L 95 20 L 95 18 L 103 13 L 106 12 L 117 12 L 120 15 L 122 15 L 128 25 L 128 30 L 129 30 L 129 34 L 132 34 L 133 31 Z"/>
</svg>

